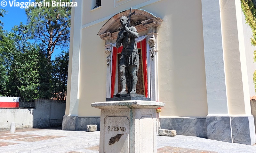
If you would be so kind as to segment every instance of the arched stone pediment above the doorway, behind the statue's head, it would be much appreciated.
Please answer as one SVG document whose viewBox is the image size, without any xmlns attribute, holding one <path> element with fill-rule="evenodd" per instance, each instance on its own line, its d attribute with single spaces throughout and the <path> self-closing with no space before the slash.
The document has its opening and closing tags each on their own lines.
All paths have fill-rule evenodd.
<svg viewBox="0 0 256 153">
<path fill-rule="evenodd" d="M 136 27 L 138 32 L 147 30 L 147 33 L 154 32 L 154 30 L 149 30 L 148 26 L 153 24 L 154 27 L 157 27 L 162 22 L 162 19 L 160 17 L 156 17 L 155 15 L 146 10 L 132 9 L 132 12 L 135 13 L 131 16 L 130 25 Z M 129 13 L 130 10 L 124 10 L 111 17 L 98 32 L 100 38 L 102 38 L 103 40 L 116 39 L 118 31 L 121 30 L 121 24 L 119 19 L 122 16 L 128 17 Z"/>
</svg>

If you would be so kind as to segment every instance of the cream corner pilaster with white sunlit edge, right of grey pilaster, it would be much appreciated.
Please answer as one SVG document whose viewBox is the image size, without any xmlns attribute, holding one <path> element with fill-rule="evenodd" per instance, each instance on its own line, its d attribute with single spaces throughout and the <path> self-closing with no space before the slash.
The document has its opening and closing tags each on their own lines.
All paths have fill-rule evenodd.
<svg viewBox="0 0 256 153">
<path fill-rule="evenodd" d="M 240 0 L 223 1 L 221 25 L 229 114 L 250 115 L 250 95 Z"/>
</svg>

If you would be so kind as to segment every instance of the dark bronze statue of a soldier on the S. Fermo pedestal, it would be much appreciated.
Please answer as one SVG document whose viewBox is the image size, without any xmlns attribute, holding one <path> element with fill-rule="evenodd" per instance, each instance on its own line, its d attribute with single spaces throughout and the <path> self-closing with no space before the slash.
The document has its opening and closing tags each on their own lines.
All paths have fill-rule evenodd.
<svg viewBox="0 0 256 153">
<path fill-rule="evenodd" d="M 136 94 L 136 84 L 138 81 L 139 55 L 136 38 L 139 34 L 135 27 L 129 27 L 128 18 L 120 18 L 122 30 L 118 33 L 116 47 L 123 45 L 121 59 L 119 63 L 119 74 L 122 90 L 117 94 Z M 128 91 L 126 91 L 126 85 Z"/>
</svg>

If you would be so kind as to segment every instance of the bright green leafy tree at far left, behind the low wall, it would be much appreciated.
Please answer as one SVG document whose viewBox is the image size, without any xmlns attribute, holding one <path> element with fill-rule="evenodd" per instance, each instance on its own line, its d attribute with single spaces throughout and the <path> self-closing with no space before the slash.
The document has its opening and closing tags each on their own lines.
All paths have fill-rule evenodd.
<svg viewBox="0 0 256 153">
<path fill-rule="evenodd" d="M 31 44 L 30 38 L 28 27 L 21 23 L 7 32 L 2 41 L 5 95 L 22 96 L 25 100 L 38 98 L 40 46 Z"/>
</svg>

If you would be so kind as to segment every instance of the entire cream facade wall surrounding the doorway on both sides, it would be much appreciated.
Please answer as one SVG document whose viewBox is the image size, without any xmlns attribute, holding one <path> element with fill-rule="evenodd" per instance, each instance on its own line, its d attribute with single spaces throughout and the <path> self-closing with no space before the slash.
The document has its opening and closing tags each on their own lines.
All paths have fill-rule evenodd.
<svg viewBox="0 0 256 153">
<path fill-rule="evenodd" d="M 151 4 L 139 9 L 163 19 L 158 28 L 159 101 L 166 103 L 161 116 L 208 114 L 201 1 L 132 0 L 116 8 L 113 1 L 102 1 L 101 8 L 92 11 L 84 3 L 83 24 L 92 26 L 82 34 L 79 116 L 99 116 L 90 104 L 105 101 L 106 95 L 105 41 L 97 33 L 109 18 L 98 24 L 93 21 L 143 2 Z"/>
</svg>

